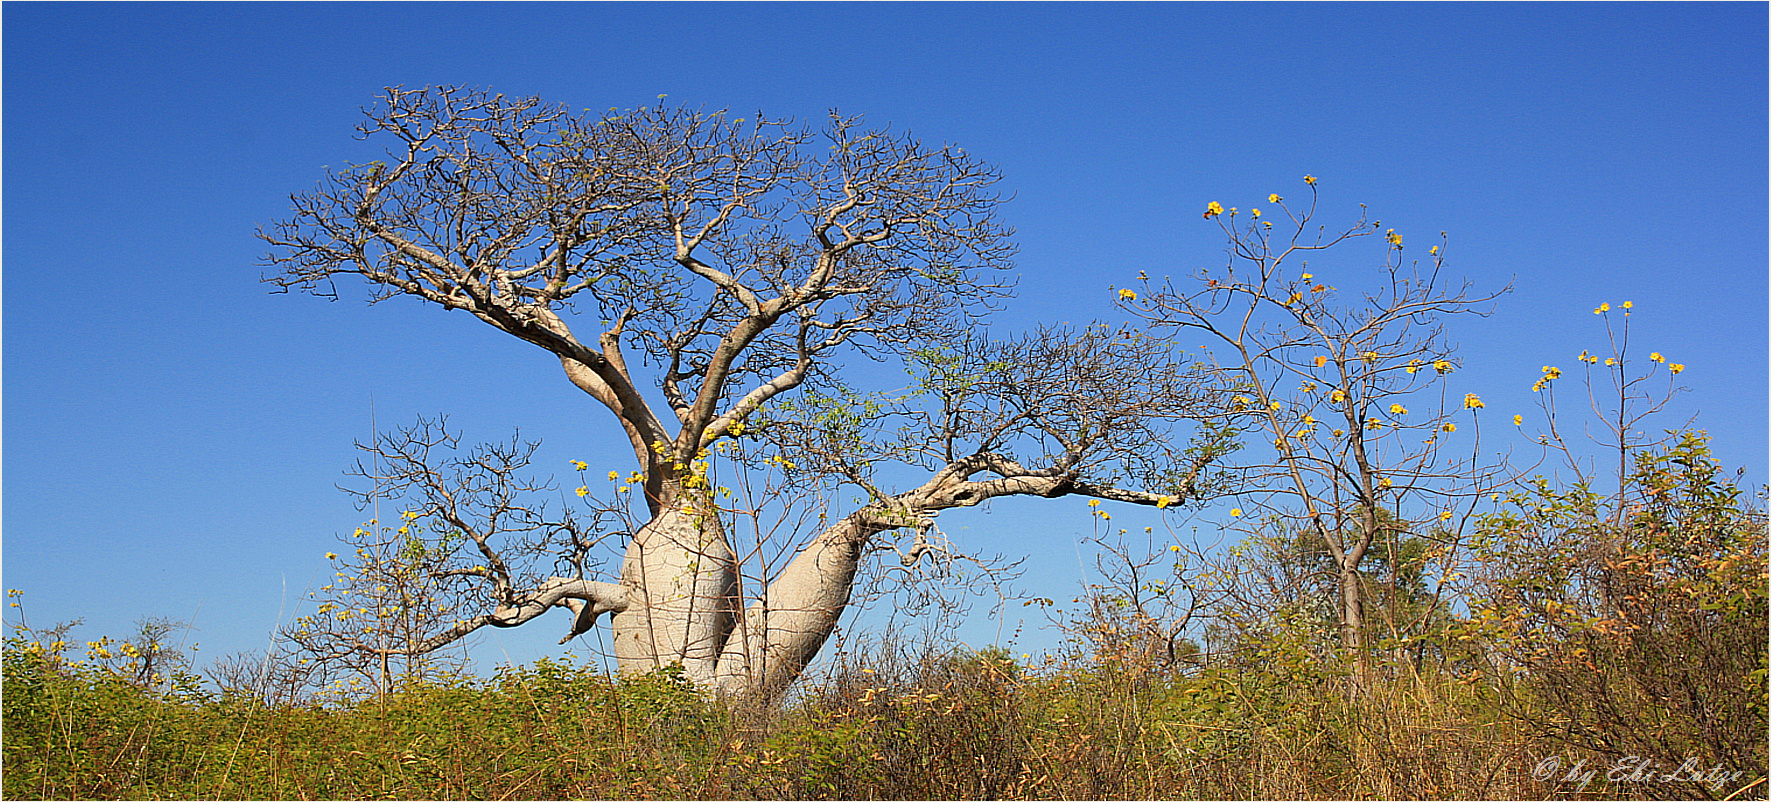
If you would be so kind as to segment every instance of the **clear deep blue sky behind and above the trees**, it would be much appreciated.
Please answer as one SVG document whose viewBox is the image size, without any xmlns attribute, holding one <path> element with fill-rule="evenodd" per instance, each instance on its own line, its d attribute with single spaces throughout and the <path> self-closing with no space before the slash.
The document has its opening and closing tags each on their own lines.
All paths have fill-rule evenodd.
<svg viewBox="0 0 1771 802">
<path fill-rule="evenodd" d="M 363 519 L 333 485 L 372 391 L 381 421 L 448 413 L 475 439 L 545 437 L 544 466 L 620 453 L 533 347 L 416 303 L 259 283 L 253 230 L 361 156 L 351 126 L 386 85 L 808 120 L 838 106 L 960 143 L 1017 195 L 1002 328 L 1109 315 L 1112 281 L 1220 262 L 1208 200 L 1250 205 L 1314 174 L 1328 209 L 1369 204 L 1415 241 L 1447 230 L 1456 271 L 1514 283 L 1452 329 L 1458 391 L 1528 411 L 1541 365 L 1603 345 L 1590 310 L 1631 299 L 1636 342 L 1690 366 L 1667 425 L 1698 414 L 1727 466 L 1766 480 L 1764 4 L 0 14 L 4 584 L 34 623 L 83 616 L 87 637 L 159 614 L 195 620 L 209 657 L 262 646 Z M 1066 597 L 1089 519 L 1047 505 L 942 524 L 1032 554 L 1020 586 Z M 549 653 L 563 627 L 498 632 L 480 657 Z"/>
</svg>

